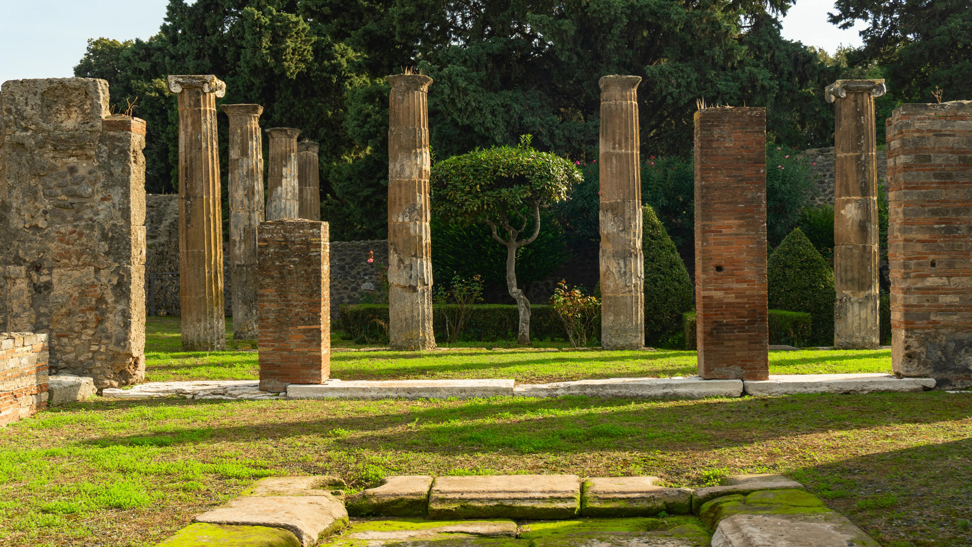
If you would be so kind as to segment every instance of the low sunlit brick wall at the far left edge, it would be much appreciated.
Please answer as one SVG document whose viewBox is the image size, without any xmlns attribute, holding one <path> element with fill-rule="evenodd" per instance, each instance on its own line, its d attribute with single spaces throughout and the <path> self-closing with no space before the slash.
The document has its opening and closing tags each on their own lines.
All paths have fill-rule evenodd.
<svg viewBox="0 0 972 547">
<path fill-rule="evenodd" d="M 48 406 L 48 335 L 0 333 L 0 426 Z"/>
</svg>

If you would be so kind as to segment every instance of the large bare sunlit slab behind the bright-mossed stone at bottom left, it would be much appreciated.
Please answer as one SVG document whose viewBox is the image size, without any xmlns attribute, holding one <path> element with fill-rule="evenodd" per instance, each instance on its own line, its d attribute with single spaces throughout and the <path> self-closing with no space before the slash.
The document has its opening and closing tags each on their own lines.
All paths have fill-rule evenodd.
<svg viewBox="0 0 972 547">
<path fill-rule="evenodd" d="M 330 495 L 250 496 L 227 501 L 194 522 L 287 529 L 303 547 L 348 524 L 344 504 Z"/>
</svg>

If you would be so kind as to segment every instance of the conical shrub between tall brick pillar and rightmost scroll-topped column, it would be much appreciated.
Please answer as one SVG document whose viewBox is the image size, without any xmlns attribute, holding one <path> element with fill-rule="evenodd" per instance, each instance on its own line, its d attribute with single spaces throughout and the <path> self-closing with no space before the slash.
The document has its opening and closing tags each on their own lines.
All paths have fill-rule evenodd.
<svg viewBox="0 0 972 547">
<path fill-rule="evenodd" d="M 834 273 L 799 228 L 770 255 L 767 281 L 771 309 L 810 313 L 814 320 L 811 343 L 833 344 Z"/>
</svg>

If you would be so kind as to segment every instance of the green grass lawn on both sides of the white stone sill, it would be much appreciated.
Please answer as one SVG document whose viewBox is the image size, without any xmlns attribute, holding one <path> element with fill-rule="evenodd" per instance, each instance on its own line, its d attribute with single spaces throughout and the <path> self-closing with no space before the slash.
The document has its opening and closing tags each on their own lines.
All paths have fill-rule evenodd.
<svg viewBox="0 0 972 547">
<path fill-rule="evenodd" d="M 217 366 L 219 361 L 193 365 L 199 355 L 175 356 L 172 340 L 171 333 L 150 335 L 156 353 L 150 375 L 159 374 L 159 361 L 166 358 L 190 360 L 179 375 Z M 165 353 L 170 357 L 159 356 Z M 884 370 L 886 356 L 871 353 L 878 355 L 865 352 L 830 365 L 816 363 L 820 355 L 774 355 L 777 370 L 816 372 L 815 366 L 849 362 Z M 227 360 L 248 355 L 225 354 Z M 386 373 L 373 359 L 416 377 L 429 370 L 449 374 L 436 365 L 438 358 L 466 363 L 454 374 L 480 377 L 549 369 L 536 378 L 610 376 L 617 372 L 605 368 L 614 366 L 620 368 L 611 371 L 647 375 L 691 369 L 692 361 L 685 352 L 630 355 L 627 365 L 589 358 L 607 353 L 571 360 L 581 355 L 568 352 L 549 355 L 567 361 L 543 361 L 547 354 L 482 353 L 414 359 L 346 353 L 335 354 L 335 361 L 344 355 L 361 362 L 342 361 L 342 378 L 349 371 L 383 378 Z M 516 359 L 480 359 L 477 368 L 475 355 Z M 617 355 L 614 360 L 626 360 L 626 352 Z M 540 360 L 517 360 L 528 356 Z M 409 365 L 418 361 L 425 364 Z M 252 375 L 247 367 L 253 366 L 230 370 Z M 702 486 L 749 472 L 781 472 L 804 482 L 885 547 L 967 546 L 972 396 L 929 391 L 699 401 L 94 398 L 0 429 L 0 545 L 154 545 L 267 475 L 329 474 L 359 490 L 391 474 L 650 474 L 672 486 Z"/>
</svg>

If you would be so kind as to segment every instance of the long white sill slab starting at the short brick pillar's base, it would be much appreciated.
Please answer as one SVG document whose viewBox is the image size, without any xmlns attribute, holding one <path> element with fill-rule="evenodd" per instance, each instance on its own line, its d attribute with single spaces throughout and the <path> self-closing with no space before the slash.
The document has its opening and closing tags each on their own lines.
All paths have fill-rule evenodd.
<svg viewBox="0 0 972 547">
<path fill-rule="evenodd" d="M 291 399 L 446 399 L 512 395 L 513 380 L 329 380 L 287 387 Z"/>
</svg>

